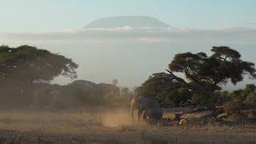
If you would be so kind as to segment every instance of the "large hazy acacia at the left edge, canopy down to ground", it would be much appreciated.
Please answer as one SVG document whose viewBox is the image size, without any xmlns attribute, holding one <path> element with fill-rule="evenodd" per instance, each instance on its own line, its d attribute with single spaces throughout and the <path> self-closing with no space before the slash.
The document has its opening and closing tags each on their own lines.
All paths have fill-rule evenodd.
<svg viewBox="0 0 256 144">
<path fill-rule="evenodd" d="M 34 93 L 35 83 L 50 81 L 59 75 L 76 78 L 77 68 L 70 58 L 34 46 L 0 46 L 1 102 L 27 102 Z"/>
</svg>

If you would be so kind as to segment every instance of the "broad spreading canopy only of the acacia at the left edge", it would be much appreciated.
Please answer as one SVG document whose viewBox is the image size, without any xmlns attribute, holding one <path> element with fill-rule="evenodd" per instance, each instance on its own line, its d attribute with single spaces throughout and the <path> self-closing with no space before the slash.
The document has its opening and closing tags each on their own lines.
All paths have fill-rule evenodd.
<svg viewBox="0 0 256 144">
<path fill-rule="evenodd" d="M 58 75 L 76 78 L 78 65 L 70 58 L 33 46 L 0 46 L 0 77 L 22 82 L 50 81 Z"/>
</svg>

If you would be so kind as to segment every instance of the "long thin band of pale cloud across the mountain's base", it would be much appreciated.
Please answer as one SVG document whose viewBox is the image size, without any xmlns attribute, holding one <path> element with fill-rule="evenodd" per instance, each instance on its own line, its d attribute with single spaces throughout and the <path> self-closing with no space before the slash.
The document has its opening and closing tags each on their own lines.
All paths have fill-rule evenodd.
<svg viewBox="0 0 256 144">
<path fill-rule="evenodd" d="M 55 33 L 0 33 L 0 41 L 80 41 L 80 42 L 232 42 L 256 43 L 256 29 L 231 27 L 218 30 L 186 30 L 168 27 L 87 28 Z"/>
</svg>

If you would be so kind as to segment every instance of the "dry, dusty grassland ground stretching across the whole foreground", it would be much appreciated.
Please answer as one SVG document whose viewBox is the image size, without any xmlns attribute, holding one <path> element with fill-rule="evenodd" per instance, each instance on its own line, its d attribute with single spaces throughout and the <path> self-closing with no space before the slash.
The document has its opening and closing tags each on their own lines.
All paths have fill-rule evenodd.
<svg viewBox="0 0 256 144">
<path fill-rule="evenodd" d="M 167 110 L 172 118 L 175 110 Z M 129 110 L 94 107 L 75 110 L 0 110 L 1 143 L 256 143 L 256 125 L 198 122 L 150 126 L 132 122 Z"/>
</svg>

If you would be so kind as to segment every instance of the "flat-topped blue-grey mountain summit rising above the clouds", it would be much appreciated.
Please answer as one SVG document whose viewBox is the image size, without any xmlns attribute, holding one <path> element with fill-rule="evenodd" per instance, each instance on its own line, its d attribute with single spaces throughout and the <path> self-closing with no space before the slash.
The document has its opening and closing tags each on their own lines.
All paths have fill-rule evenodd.
<svg viewBox="0 0 256 144">
<path fill-rule="evenodd" d="M 152 27 L 152 28 L 167 28 L 164 22 L 159 21 L 156 18 L 148 16 L 118 16 L 110 18 L 99 18 L 94 22 L 91 22 L 85 28 L 115 28 L 131 26 L 135 28 Z"/>
</svg>

